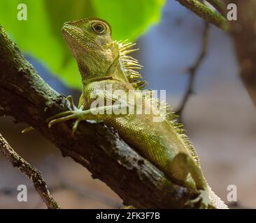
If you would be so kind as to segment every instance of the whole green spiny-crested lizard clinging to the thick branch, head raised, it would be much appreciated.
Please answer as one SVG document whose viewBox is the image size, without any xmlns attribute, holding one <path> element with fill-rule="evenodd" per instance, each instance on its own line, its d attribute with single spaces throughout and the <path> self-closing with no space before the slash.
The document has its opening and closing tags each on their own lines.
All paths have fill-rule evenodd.
<svg viewBox="0 0 256 223">
<path fill-rule="evenodd" d="M 138 153 L 162 169 L 173 183 L 199 190 L 199 197 L 189 201 L 190 204 L 227 208 L 208 186 L 197 152 L 176 123 L 176 115 L 152 98 L 151 91 L 138 91 L 145 86 L 145 82 L 138 81 L 141 75 L 135 71 L 141 66 L 127 55 L 136 50 L 130 49 L 134 44 L 113 41 L 111 26 L 97 18 L 66 22 L 62 33 L 78 63 L 83 92 L 79 109 L 48 118 L 49 128 L 74 120 L 74 133 L 80 121 L 104 121 L 118 130 Z M 131 92 L 135 99 L 130 101 L 127 98 Z M 71 98 L 68 99 L 73 106 Z M 132 107 L 142 112 L 136 113 Z"/>
</svg>

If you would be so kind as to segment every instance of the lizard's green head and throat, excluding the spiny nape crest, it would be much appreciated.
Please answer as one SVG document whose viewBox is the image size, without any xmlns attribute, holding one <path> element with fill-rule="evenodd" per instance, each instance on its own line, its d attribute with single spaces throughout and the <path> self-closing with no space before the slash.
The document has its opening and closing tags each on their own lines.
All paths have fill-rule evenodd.
<svg viewBox="0 0 256 223">
<path fill-rule="evenodd" d="M 62 33 L 76 58 L 84 83 L 107 78 L 116 69 L 118 43 L 111 38 L 108 22 L 97 18 L 66 22 Z"/>
</svg>

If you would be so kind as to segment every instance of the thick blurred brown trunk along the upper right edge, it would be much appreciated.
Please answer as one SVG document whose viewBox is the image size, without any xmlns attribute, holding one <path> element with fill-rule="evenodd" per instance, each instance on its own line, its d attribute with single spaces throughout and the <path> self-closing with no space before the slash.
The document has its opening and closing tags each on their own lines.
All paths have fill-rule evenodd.
<svg viewBox="0 0 256 223">
<path fill-rule="evenodd" d="M 231 21 L 231 35 L 240 65 L 240 77 L 256 105 L 256 1 L 225 0 L 235 3 L 238 20 Z"/>
</svg>

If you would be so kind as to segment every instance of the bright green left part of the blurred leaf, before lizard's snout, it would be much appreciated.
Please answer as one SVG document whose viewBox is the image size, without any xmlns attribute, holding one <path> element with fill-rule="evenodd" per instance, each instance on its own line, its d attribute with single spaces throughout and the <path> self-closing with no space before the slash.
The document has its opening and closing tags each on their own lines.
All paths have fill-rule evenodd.
<svg viewBox="0 0 256 223">
<path fill-rule="evenodd" d="M 17 20 L 19 3 L 27 5 L 27 21 Z M 51 70 L 57 70 L 62 61 L 62 46 L 50 32 L 49 16 L 43 1 L 3 0 L 0 6 L 0 23 L 22 52 L 39 59 Z"/>
</svg>

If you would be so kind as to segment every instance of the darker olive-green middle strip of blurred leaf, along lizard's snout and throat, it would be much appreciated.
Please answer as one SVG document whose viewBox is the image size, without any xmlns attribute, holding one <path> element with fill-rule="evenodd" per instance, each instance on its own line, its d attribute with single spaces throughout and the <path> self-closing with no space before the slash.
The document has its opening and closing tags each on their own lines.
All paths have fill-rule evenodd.
<svg viewBox="0 0 256 223">
<path fill-rule="evenodd" d="M 76 61 L 62 37 L 61 29 L 64 22 L 94 17 L 91 1 L 85 0 L 45 0 L 45 7 L 50 18 L 50 28 L 62 46 L 62 64 L 55 70 L 62 81 L 73 88 L 81 88 L 80 74 Z"/>
</svg>

